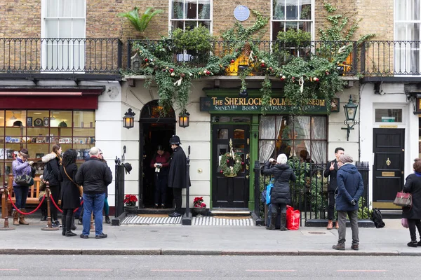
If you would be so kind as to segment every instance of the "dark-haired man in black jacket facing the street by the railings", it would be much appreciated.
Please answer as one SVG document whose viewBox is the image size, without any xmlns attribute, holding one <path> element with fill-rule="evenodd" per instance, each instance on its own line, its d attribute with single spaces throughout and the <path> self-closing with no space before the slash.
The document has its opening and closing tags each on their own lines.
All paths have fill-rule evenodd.
<svg viewBox="0 0 421 280">
<path fill-rule="evenodd" d="M 335 212 L 335 190 L 338 188 L 336 182 L 336 172 L 338 172 L 338 160 L 340 155 L 345 153 L 344 148 L 335 148 L 335 160 L 328 162 L 324 172 L 325 178 L 329 177 L 328 194 L 329 194 L 329 207 L 328 207 L 328 230 L 333 228 L 333 214 Z M 339 228 L 338 220 L 336 221 L 336 229 Z"/>
</svg>

